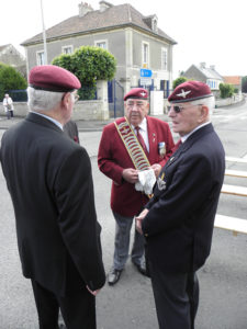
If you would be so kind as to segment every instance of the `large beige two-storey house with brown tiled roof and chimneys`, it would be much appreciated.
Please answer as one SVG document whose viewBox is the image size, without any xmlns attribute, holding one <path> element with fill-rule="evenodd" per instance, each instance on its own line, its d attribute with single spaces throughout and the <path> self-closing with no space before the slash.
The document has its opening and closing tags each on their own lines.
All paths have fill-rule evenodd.
<svg viewBox="0 0 247 329">
<path fill-rule="evenodd" d="M 151 89 L 169 90 L 176 42 L 158 27 L 158 16 L 144 16 L 128 3 L 113 5 L 100 1 L 99 7 L 99 10 L 93 10 L 90 4 L 81 2 L 78 15 L 47 29 L 48 64 L 61 53 L 70 54 L 83 45 L 103 47 L 116 58 L 115 79 L 124 92 L 143 83 L 141 69 L 151 70 L 151 79 L 145 82 Z M 26 39 L 22 46 L 27 71 L 44 64 L 42 33 Z"/>
</svg>

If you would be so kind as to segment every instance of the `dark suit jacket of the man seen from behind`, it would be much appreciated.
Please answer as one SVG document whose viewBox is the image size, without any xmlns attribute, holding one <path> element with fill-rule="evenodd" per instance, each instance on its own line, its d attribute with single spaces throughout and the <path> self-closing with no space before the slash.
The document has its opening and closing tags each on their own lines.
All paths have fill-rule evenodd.
<svg viewBox="0 0 247 329">
<path fill-rule="evenodd" d="M 59 295 L 105 281 L 85 148 L 30 113 L 4 133 L 1 163 L 10 191 L 23 274 Z"/>
</svg>

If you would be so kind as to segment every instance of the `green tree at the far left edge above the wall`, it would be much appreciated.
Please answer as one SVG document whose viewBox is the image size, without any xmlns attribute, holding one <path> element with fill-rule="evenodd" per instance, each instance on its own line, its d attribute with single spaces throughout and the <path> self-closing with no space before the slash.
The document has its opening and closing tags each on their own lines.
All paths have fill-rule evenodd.
<svg viewBox="0 0 247 329">
<path fill-rule="evenodd" d="M 9 90 L 26 89 L 27 82 L 12 66 L 0 63 L 0 100 Z"/>
</svg>

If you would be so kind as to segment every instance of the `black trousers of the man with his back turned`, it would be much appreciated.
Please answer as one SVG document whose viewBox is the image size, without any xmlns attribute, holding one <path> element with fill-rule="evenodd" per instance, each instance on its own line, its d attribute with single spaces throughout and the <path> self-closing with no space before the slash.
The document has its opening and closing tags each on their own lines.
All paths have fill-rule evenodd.
<svg viewBox="0 0 247 329">
<path fill-rule="evenodd" d="M 57 329 L 60 308 L 67 329 L 96 329 L 96 297 L 86 287 L 60 297 L 32 280 L 40 329 Z"/>
</svg>

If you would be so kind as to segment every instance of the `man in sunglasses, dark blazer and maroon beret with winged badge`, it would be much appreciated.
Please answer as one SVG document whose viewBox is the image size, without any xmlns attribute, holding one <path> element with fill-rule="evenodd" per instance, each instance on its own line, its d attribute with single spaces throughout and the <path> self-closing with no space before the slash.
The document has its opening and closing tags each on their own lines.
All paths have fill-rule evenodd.
<svg viewBox="0 0 247 329">
<path fill-rule="evenodd" d="M 199 303 L 195 272 L 210 254 L 225 154 L 210 122 L 214 98 L 205 83 L 184 82 L 168 100 L 181 145 L 161 169 L 136 227 L 146 238 L 159 328 L 192 329 Z"/>
</svg>

